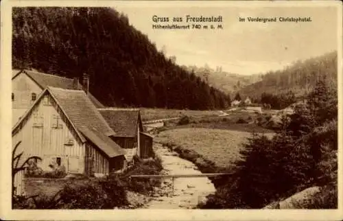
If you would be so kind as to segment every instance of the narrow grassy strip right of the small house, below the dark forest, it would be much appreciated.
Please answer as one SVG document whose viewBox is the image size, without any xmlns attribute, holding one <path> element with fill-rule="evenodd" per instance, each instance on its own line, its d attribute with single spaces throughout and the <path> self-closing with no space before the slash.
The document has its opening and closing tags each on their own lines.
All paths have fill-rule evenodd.
<svg viewBox="0 0 343 221">
<path fill-rule="evenodd" d="M 161 109 L 161 108 L 140 108 L 142 121 L 150 121 L 154 119 L 165 119 L 173 117 L 191 116 L 191 117 L 206 117 L 221 115 L 219 110 L 176 110 L 176 109 Z"/>
</svg>

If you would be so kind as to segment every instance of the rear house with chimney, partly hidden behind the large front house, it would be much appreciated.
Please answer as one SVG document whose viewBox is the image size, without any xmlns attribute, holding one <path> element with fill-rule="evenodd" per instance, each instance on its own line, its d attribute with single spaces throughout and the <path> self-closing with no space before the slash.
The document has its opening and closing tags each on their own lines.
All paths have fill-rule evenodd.
<svg viewBox="0 0 343 221">
<path fill-rule="evenodd" d="M 89 93 L 88 76 L 84 75 L 80 82 L 78 78 L 62 78 L 37 71 L 12 70 L 12 124 L 14 125 L 19 120 L 47 86 L 61 89 L 83 89 L 97 108 L 104 107 Z"/>
</svg>

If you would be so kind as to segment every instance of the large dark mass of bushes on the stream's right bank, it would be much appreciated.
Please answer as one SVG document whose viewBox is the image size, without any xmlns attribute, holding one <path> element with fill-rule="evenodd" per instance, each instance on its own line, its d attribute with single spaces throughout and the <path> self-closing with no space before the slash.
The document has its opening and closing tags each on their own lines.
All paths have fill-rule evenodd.
<svg viewBox="0 0 343 221">
<path fill-rule="evenodd" d="M 311 184 L 309 148 L 285 134 L 272 140 L 254 135 L 241 155 L 233 177 L 202 207 L 258 209 Z"/>
</svg>

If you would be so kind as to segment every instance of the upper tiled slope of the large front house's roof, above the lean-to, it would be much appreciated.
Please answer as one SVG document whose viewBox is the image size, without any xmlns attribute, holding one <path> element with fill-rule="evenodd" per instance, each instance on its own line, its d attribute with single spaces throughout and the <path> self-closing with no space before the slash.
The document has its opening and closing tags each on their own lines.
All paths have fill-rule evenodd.
<svg viewBox="0 0 343 221">
<path fill-rule="evenodd" d="M 88 99 L 84 91 L 60 89 L 51 86 L 48 86 L 47 89 L 77 129 L 91 126 L 106 136 L 115 135 L 115 132 L 108 126 L 104 117 Z"/>
</svg>

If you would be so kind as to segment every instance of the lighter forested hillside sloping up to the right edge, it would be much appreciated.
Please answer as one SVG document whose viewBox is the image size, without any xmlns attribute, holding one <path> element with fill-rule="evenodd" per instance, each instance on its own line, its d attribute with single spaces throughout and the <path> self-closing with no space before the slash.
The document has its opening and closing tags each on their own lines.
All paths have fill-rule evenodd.
<svg viewBox="0 0 343 221">
<path fill-rule="evenodd" d="M 280 71 L 265 73 L 261 81 L 244 87 L 239 93 L 261 99 L 262 93 L 278 95 L 292 91 L 296 97 L 300 97 L 311 91 L 323 75 L 337 82 L 337 51 L 295 62 Z"/>
</svg>

